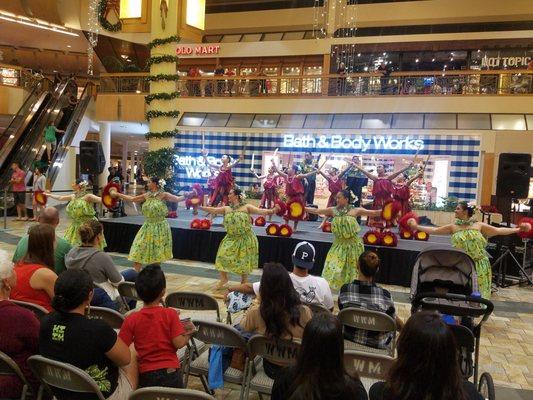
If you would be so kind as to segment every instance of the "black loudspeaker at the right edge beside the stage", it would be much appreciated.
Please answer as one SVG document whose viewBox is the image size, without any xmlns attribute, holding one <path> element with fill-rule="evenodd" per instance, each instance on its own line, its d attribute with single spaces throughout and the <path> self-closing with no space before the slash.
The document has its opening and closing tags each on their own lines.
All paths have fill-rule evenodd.
<svg viewBox="0 0 533 400">
<path fill-rule="evenodd" d="M 502 153 L 498 162 L 496 196 L 525 199 L 529 192 L 531 154 Z"/>
</svg>

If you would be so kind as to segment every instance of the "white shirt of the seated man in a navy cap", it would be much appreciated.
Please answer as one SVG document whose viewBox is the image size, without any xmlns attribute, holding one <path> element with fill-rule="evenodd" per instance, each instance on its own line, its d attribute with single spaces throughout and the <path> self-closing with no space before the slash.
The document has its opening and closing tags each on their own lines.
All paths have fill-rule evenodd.
<svg viewBox="0 0 533 400">
<path fill-rule="evenodd" d="M 300 300 L 303 303 L 320 304 L 326 307 L 328 310 L 333 308 L 333 296 L 331 295 L 331 289 L 328 281 L 320 276 L 307 275 L 301 277 L 293 274 L 289 274 L 294 285 L 294 289 L 300 295 Z M 259 296 L 260 282 L 254 282 L 252 284 L 254 293 Z"/>
</svg>

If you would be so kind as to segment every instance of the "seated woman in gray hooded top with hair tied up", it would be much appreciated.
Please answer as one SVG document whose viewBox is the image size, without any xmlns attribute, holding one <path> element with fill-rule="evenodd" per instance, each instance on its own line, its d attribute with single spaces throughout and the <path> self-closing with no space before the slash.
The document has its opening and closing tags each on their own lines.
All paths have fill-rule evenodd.
<svg viewBox="0 0 533 400">
<path fill-rule="evenodd" d="M 67 269 L 81 269 L 87 272 L 96 286 L 91 305 L 119 310 L 117 302 L 119 293 L 117 286 L 124 280 L 135 282 L 137 272 L 133 269 L 118 272 L 111 256 L 101 249 L 103 242 L 102 224 L 96 220 L 84 222 L 78 229 L 81 246 L 74 247 L 65 256 Z M 135 301 L 132 301 L 130 308 L 135 308 Z"/>
</svg>

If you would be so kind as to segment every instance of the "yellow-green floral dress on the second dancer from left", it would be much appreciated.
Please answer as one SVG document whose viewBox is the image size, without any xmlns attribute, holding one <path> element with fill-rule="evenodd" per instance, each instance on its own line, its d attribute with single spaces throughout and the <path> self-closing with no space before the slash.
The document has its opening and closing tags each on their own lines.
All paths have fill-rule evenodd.
<svg viewBox="0 0 533 400">
<path fill-rule="evenodd" d="M 159 199 L 160 194 L 150 193 L 142 206 L 145 220 L 131 245 L 130 261 L 152 264 L 172 258 L 172 233 L 166 220 L 168 208 Z"/>
</svg>

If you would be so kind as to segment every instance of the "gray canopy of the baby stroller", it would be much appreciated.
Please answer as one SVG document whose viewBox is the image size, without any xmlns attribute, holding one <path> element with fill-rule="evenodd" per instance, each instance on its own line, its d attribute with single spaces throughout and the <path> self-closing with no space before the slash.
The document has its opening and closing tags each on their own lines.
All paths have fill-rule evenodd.
<svg viewBox="0 0 533 400">
<path fill-rule="evenodd" d="M 472 281 L 472 291 L 478 291 L 475 263 L 459 249 L 431 246 L 418 254 L 411 277 L 411 298 L 416 296 L 419 284 L 436 280 L 460 286 Z"/>
</svg>

